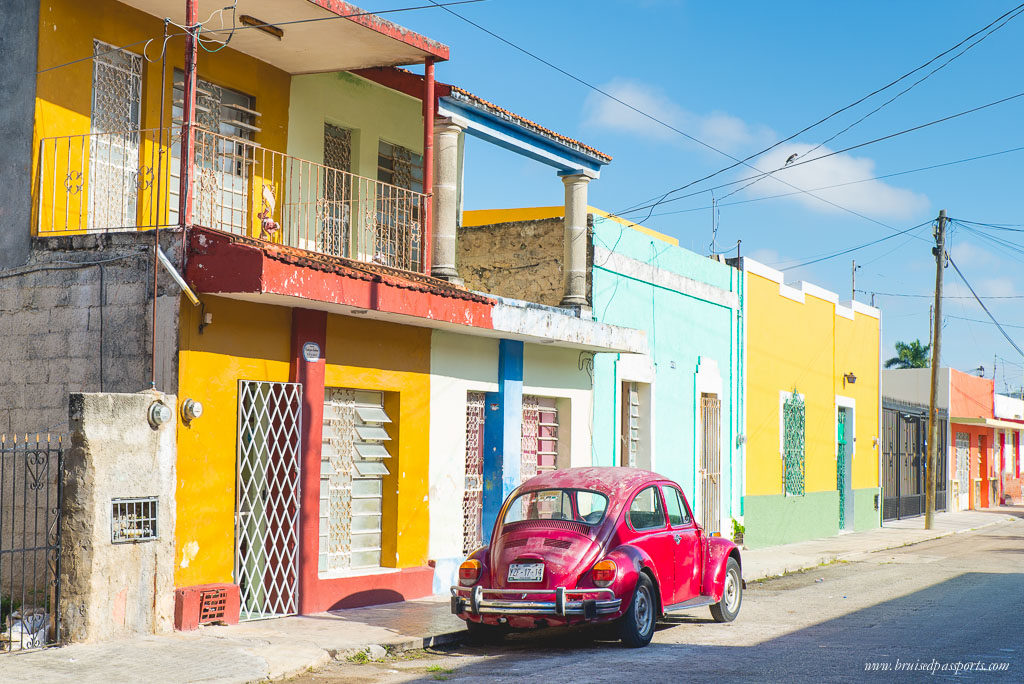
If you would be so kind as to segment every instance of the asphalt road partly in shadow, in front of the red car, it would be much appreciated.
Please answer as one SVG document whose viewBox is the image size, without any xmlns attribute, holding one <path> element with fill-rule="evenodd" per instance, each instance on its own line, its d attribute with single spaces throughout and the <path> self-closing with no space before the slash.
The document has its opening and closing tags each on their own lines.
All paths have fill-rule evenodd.
<svg viewBox="0 0 1024 684">
<path fill-rule="evenodd" d="M 293 682 L 1024 682 L 1024 520 L 751 584 L 730 625 L 701 608 L 646 648 L 601 639 L 545 630 Z"/>
</svg>

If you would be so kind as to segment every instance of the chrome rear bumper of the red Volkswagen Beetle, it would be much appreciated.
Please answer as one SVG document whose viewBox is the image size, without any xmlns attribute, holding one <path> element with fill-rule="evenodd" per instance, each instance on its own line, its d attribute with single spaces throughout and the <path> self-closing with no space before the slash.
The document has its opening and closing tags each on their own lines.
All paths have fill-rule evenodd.
<svg viewBox="0 0 1024 684">
<path fill-rule="evenodd" d="M 513 596 L 520 598 L 511 598 Z M 610 589 L 484 589 L 452 587 L 456 615 L 559 615 L 595 619 L 618 612 L 623 600 Z"/>
</svg>

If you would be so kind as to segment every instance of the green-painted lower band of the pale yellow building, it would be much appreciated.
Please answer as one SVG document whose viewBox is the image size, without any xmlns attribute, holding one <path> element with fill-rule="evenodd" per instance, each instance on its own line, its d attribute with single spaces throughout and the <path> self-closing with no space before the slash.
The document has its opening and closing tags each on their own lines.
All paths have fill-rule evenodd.
<svg viewBox="0 0 1024 684">
<path fill-rule="evenodd" d="M 854 506 L 856 524 L 859 499 L 854 500 Z M 839 491 L 745 497 L 743 525 L 743 546 L 749 549 L 834 537 L 839 533 Z"/>
</svg>

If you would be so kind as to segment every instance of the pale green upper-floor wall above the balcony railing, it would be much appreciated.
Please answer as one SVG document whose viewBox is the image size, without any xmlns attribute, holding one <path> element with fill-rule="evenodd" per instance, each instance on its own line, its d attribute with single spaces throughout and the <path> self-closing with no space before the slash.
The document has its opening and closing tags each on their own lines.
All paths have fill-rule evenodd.
<svg viewBox="0 0 1024 684">
<path fill-rule="evenodd" d="M 292 77 L 288 154 L 324 162 L 324 124 L 352 131 L 352 173 L 377 178 L 380 140 L 423 152 L 419 99 L 348 72 Z"/>
</svg>

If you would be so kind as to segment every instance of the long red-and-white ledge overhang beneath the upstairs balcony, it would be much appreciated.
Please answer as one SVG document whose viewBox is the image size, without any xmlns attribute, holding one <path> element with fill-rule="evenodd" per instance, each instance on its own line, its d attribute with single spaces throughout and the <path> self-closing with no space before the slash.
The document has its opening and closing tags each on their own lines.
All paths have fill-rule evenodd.
<svg viewBox="0 0 1024 684">
<path fill-rule="evenodd" d="M 200 294 L 595 353 L 647 352 L 642 331 L 467 292 L 424 275 L 407 277 L 209 228 L 193 228 L 188 244 L 185 279 Z"/>
</svg>

